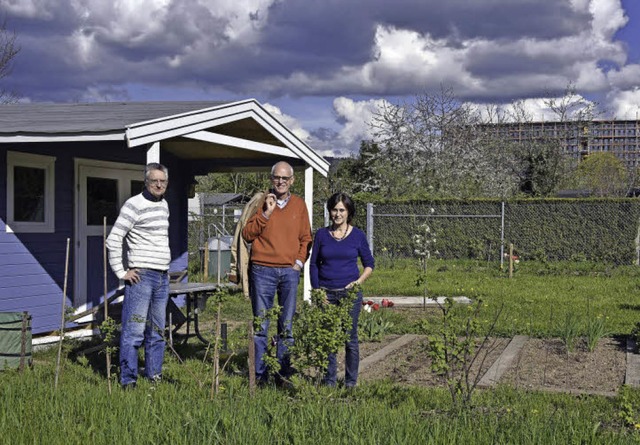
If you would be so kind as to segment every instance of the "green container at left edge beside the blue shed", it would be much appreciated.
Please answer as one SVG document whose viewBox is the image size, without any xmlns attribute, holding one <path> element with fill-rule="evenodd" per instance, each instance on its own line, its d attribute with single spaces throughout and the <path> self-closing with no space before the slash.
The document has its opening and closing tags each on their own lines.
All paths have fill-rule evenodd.
<svg viewBox="0 0 640 445">
<path fill-rule="evenodd" d="M 0 371 L 31 365 L 31 317 L 26 312 L 0 312 Z"/>
</svg>

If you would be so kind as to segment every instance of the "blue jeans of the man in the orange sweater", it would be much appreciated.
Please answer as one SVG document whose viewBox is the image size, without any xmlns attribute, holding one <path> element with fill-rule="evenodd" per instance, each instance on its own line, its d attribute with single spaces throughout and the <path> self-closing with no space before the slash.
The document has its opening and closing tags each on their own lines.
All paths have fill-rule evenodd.
<svg viewBox="0 0 640 445">
<path fill-rule="evenodd" d="M 264 317 L 266 312 L 273 307 L 275 295 L 278 295 L 278 305 L 282 308 L 278 316 L 278 334 L 276 357 L 280 362 L 282 377 L 290 377 L 293 374 L 288 347 L 293 344 L 291 329 L 293 315 L 296 312 L 296 296 L 300 272 L 293 267 L 267 267 L 259 264 L 251 265 L 250 294 L 251 307 L 254 317 Z M 267 352 L 267 335 L 269 320 L 264 319 L 253 337 L 256 349 L 256 379 L 260 382 L 267 381 L 269 374 L 267 366 L 262 359 Z"/>
</svg>

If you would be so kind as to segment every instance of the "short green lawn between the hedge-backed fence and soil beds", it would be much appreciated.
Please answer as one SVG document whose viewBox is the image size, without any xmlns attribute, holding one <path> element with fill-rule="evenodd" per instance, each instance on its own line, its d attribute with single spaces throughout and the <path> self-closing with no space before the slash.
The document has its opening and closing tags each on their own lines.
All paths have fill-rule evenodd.
<svg viewBox="0 0 640 445">
<path fill-rule="evenodd" d="M 415 262 L 398 260 L 393 267 L 375 270 L 365 283 L 365 293 L 391 299 L 422 296 L 422 288 L 415 285 L 416 276 Z M 583 326 L 589 317 L 603 316 L 610 335 L 628 335 L 640 320 L 637 266 L 524 262 L 510 279 L 495 263 L 433 260 L 429 262 L 427 286 L 431 297 L 482 297 L 487 319 L 492 311 L 503 308 L 496 331 L 505 336 L 557 337 L 569 312 Z"/>
</svg>

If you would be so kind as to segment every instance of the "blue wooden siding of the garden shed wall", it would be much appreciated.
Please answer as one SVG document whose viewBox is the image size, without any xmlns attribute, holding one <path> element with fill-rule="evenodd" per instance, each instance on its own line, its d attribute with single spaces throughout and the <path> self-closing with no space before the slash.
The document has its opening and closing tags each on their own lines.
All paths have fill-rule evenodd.
<svg viewBox="0 0 640 445">
<path fill-rule="evenodd" d="M 8 150 L 55 156 L 55 232 L 7 233 Z M 25 143 L 0 144 L 0 312 L 28 311 L 34 334 L 60 328 L 64 287 L 66 241 L 71 240 L 67 278 L 67 304 L 73 300 L 74 257 L 74 158 L 138 164 L 146 162 L 144 149 L 123 143 Z M 171 212 L 172 270 L 187 267 L 187 190 L 190 170 L 180 160 L 161 153 L 170 169 L 167 200 Z"/>
</svg>

